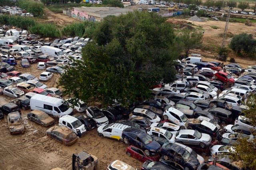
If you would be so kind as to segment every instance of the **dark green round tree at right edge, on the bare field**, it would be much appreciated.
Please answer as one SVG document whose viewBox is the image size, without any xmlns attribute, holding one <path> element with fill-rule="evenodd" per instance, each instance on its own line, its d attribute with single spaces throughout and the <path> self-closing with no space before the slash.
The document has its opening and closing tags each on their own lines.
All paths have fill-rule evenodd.
<svg viewBox="0 0 256 170">
<path fill-rule="evenodd" d="M 256 40 L 252 34 L 242 33 L 232 38 L 230 48 L 236 53 L 256 53 Z"/>
</svg>

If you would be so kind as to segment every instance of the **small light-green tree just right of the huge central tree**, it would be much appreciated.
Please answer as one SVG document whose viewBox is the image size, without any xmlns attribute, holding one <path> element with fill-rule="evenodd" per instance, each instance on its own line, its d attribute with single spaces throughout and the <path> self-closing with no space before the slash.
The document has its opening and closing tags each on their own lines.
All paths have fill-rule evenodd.
<svg viewBox="0 0 256 170">
<path fill-rule="evenodd" d="M 188 53 L 190 49 L 197 48 L 202 44 L 202 32 L 196 32 L 191 30 L 184 30 L 184 32 L 179 36 L 179 40 L 184 45 L 184 51 L 186 57 L 188 57 Z"/>
</svg>

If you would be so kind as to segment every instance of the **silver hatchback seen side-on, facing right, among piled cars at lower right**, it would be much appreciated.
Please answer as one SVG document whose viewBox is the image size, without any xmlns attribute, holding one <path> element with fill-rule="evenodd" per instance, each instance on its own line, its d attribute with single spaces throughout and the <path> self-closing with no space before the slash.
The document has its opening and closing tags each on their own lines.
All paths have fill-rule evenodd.
<svg viewBox="0 0 256 170">
<path fill-rule="evenodd" d="M 175 141 L 181 144 L 199 145 L 206 148 L 211 144 L 212 138 L 209 134 L 197 130 L 182 129 L 176 133 Z"/>
</svg>

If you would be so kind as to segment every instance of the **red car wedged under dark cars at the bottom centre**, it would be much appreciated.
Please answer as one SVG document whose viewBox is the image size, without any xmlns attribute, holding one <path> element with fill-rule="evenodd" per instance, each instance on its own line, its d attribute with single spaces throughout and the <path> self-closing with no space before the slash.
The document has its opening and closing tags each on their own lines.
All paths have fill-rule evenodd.
<svg viewBox="0 0 256 170">
<path fill-rule="evenodd" d="M 154 156 L 146 156 L 146 154 L 144 154 L 143 150 L 141 150 L 140 148 L 137 148 L 133 145 L 130 145 L 126 148 L 126 154 L 128 156 L 132 156 L 138 160 L 140 160 L 141 162 L 146 162 L 146 160 L 154 160 L 154 161 L 158 161 L 160 156 L 159 154 L 156 154 Z"/>
</svg>

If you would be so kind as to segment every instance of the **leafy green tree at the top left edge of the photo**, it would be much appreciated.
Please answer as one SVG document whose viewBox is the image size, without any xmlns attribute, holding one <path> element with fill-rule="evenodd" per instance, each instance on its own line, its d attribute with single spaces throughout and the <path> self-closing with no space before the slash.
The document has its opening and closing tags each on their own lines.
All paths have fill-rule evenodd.
<svg viewBox="0 0 256 170">
<path fill-rule="evenodd" d="M 44 5 L 39 1 L 34 0 L 18 0 L 17 5 L 21 9 L 26 9 L 34 16 L 42 16 L 44 14 Z"/>
</svg>

